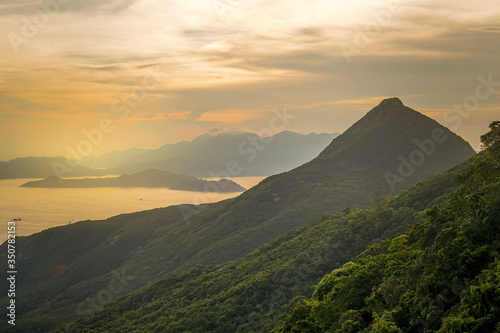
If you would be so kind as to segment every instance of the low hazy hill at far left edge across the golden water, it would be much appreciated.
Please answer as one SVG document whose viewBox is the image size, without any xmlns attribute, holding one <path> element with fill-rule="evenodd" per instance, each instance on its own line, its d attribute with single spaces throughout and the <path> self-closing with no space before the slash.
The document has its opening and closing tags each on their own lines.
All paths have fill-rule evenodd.
<svg viewBox="0 0 500 333">
<path fill-rule="evenodd" d="M 23 157 L 0 162 L 0 179 L 13 178 L 46 178 L 57 175 L 58 170 L 71 177 L 101 176 L 106 174 L 82 165 L 74 167 L 71 161 L 64 157 Z"/>
</svg>

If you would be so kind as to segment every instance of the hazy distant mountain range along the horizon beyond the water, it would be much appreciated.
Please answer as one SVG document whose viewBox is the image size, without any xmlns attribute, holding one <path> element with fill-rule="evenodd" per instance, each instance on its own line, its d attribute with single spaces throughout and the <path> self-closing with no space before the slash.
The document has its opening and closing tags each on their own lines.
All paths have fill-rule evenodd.
<svg viewBox="0 0 500 333">
<path fill-rule="evenodd" d="M 214 129 L 193 141 L 158 149 L 129 149 L 83 158 L 80 165 L 64 157 L 26 157 L 0 162 L 0 179 L 131 174 L 149 169 L 195 177 L 269 176 L 291 170 L 316 157 L 338 134 L 303 135 L 290 131 L 264 138 L 241 130 Z M 70 168 L 66 166 L 70 165 Z"/>
</svg>

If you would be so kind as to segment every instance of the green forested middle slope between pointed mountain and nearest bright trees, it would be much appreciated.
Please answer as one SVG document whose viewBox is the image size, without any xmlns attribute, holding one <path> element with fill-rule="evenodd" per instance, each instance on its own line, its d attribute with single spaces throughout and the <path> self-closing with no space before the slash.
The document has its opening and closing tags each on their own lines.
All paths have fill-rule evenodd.
<svg viewBox="0 0 500 333">
<path fill-rule="evenodd" d="M 332 268 L 423 222 L 464 166 L 368 209 L 322 214 L 234 262 L 171 274 L 60 332 L 269 332 Z"/>
</svg>

